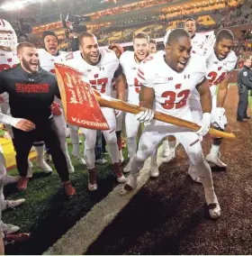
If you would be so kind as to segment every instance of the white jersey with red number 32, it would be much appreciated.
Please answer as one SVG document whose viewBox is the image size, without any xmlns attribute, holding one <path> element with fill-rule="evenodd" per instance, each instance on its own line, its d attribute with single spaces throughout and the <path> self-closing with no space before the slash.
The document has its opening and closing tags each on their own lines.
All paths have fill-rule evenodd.
<svg viewBox="0 0 252 256">
<path fill-rule="evenodd" d="M 169 68 L 164 56 L 158 54 L 141 62 L 138 79 L 140 84 L 154 89 L 155 110 L 182 118 L 189 110 L 188 96 L 202 82 L 205 72 L 205 59 L 196 54 L 192 54 L 181 73 Z"/>
</svg>

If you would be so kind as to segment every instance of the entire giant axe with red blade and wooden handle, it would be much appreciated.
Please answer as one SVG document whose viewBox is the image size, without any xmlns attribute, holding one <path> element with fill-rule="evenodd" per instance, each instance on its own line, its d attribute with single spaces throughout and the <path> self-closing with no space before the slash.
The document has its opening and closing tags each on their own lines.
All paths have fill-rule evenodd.
<svg viewBox="0 0 252 256">
<path fill-rule="evenodd" d="M 103 96 L 84 81 L 83 73 L 77 69 L 56 63 L 55 71 L 67 123 L 88 129 L 109 130 L 109 125 L 103 116 L 100 106 L 131 114 L 139 114 L 139 112 L 146 109 L 139 105 L 132 105 L 109 96 Z M 198 131 L 201 128 L 196 123 L 157 111 L 155 111 L 154 119 L 193 131 Z M 209 133 L 213 137 L 229 140 L 236 139 L 233 133 L 224 133 L 212 128 L 210 128 Z"/>
</svg>

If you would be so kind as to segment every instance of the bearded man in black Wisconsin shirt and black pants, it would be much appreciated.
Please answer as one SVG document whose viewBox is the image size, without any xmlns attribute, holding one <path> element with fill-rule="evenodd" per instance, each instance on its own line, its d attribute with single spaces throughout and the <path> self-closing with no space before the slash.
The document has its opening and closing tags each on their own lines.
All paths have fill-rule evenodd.
<svg viewBox="0 0 252 256">
<path fill-rule="evenodd" d="M 59 97 L 57 79 L 48 71 L 39 68 L 39 54 L 32 43 L 20 43 L 17 55 L 20 65 L 0 73 L 0 94 L 9 94 L 13 117 L 24 118 L 35 124 L 35 129 L 29 133 L 13 129 L 17 169 L 21 176 L 17 188 L 24 190 L 27 187 L 27 159 L 32 143 L 43 141 L 49 145 L 53 163 L 67 196 L 72 197 L 76 191 L 68 178 L 67 160 L 60 149 L 50 112 L 54 96 Z"/>
</svg>

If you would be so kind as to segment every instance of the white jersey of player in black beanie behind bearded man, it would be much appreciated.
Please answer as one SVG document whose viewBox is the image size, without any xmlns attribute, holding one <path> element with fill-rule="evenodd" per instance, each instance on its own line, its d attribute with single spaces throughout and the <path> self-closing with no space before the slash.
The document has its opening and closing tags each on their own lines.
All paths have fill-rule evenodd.
<svg viewBox="0 0 252 256">
<path fill-rule="evenodd" d="M 62 62 L 68 54 L 66 51 L 59 51 L 58 56 L 53 56 L 49 54 L 47 50 L 44 49 L 38 49 L 38 53 L 40 57 L 40 67 L 42 69 L 49 71 L 50 73 L 55 73 L 54 63 Z"/>
</svg>

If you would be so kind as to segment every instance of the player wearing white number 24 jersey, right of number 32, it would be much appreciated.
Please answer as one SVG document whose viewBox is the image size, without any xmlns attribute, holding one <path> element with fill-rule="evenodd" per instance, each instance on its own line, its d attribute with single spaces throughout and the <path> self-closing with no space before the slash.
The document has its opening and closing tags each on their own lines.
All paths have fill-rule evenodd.
<svg viewBox="0 0 252 256">
<path fill-rule="evenodd" d="M 228 94 L 230 72 L 235 69 L 237 64 L 237 56 L 231 50 L 234 42 L 234 35 L 229 30 L 223 29 L 216 35 L 216 41 L 211 48 L 210 56 L 207 59 L 206 78 L 209 81 L 212 100 L 211 123 L 220 131 L 224 131 L 227 125 L 227 117 L 223 107 L 225 98 Z M 216 95 L 216 88 L 219 86 L 218 94 Z M 190 97 L 190 107 L 193 111 L 194 122 L 201 123 L 202 108 L 200 104 L 200 96 L 197 91 L 193 91 Z M 221 138 L 214 138 L 211 144 L 211 151 L 206 156 L 206 160 L 215 165 L 226 168 L 227 165 L 219 158 Z M 200 178 L 195 174 L 195 167 L 191 164 L 189 173 L 191 177 L 200 182 Z"/>
</svg>

